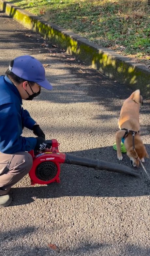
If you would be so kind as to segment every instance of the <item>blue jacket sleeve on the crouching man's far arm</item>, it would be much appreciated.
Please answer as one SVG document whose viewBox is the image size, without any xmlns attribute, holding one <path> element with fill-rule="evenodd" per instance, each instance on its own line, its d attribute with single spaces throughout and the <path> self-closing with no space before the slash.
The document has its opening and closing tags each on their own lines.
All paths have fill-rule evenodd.
<svg viewBox="0 0 150 256">
<path fill-rule="evenodd" d="M 32 130 L 36 121 L 32 119 L 29 112 L 27 110 L 24 110 L 23 108 L 21 108 L 21 119 L 22 119 L 22 128 L 26 127 Z"/>
</svg>

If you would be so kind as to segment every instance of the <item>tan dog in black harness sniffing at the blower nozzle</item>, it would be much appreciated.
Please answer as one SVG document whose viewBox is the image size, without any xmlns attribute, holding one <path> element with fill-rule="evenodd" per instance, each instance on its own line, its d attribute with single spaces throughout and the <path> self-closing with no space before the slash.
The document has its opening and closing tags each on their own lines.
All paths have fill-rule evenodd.
<svg viewBox="0 0 150 256">
<path fill-rule="evenodd" d="M 139 111 L 142 103 L 143 97 L 140 95 L 140 90 L 133 92 L 130 97 L 124 101 L 118 120 L 120 130 L 116 133 L 117 158 L 118 160 L 122 160 L 121 139 L 124 137 L 126 130 L 121 129 L 125 128 L 131 131 L 129 131 L 129 133 L 127 131 L 128 134 L 125 135 L 124 145 L 127 150 L 127 156 L 130 158 L 130 164 L 134 167 L 138 167 L 139 160 L 133 149 L 132 131 L 137 131 L 134 136 L 134 145 L 139 159 L 144 162 L 144 157 L 149 157 L 143 145 L 140 132 L 138 132 L 140 131 Z"/>
</svg>

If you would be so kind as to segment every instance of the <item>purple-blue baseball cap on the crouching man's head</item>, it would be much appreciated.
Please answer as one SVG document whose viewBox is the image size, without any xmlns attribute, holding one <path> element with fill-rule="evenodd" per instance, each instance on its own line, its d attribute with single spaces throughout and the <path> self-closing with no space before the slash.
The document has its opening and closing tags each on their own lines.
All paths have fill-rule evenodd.
<svg viewBox="0 0 150 256">
<path fill-rule="evenodd" d="M 9 65 L 9 70 L 16 76 L 35 82 L 47 90 L 53 89 L 53 86 L 45 78 L 45 69 L 42 63 L 33 56 L 23 55 L 15 58 L 13 66 Z"/>
</svg>

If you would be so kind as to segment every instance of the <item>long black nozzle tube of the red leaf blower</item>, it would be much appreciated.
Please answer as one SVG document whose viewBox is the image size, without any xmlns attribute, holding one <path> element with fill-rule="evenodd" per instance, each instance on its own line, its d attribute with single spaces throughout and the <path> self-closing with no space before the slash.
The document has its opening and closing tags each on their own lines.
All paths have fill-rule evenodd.
<svg viewBox="0 0 150 256">
<path fill-rule="evenodd" d="M 98 159 L 91 159 L 87 157 L 74 156 L 68 153 L 66 154 L 66 159 L 64 163 L 82 165 L 90 168 L 95 168 L 97 170 L 107 170 L 111 172 L 124 173 L 139 177 L 140 175 L 133 169 L 118 163 L 105 162 Z"/>
</svg>

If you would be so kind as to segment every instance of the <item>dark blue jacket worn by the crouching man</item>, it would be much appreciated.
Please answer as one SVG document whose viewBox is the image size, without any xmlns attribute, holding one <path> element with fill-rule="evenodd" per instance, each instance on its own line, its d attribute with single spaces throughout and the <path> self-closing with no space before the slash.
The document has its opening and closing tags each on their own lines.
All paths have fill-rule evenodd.
<svg viewBox="0 0 150 256">
<path fill-rule="evenodd" d="M 34 137 L 22 137 L 22 127 L 32 129 L 36 122 L 22 108 L 22 98 L 7 76 L 0 77 L 0 152 L 13 154 L 30 151 L 37 143 Z"/>
</svg>

